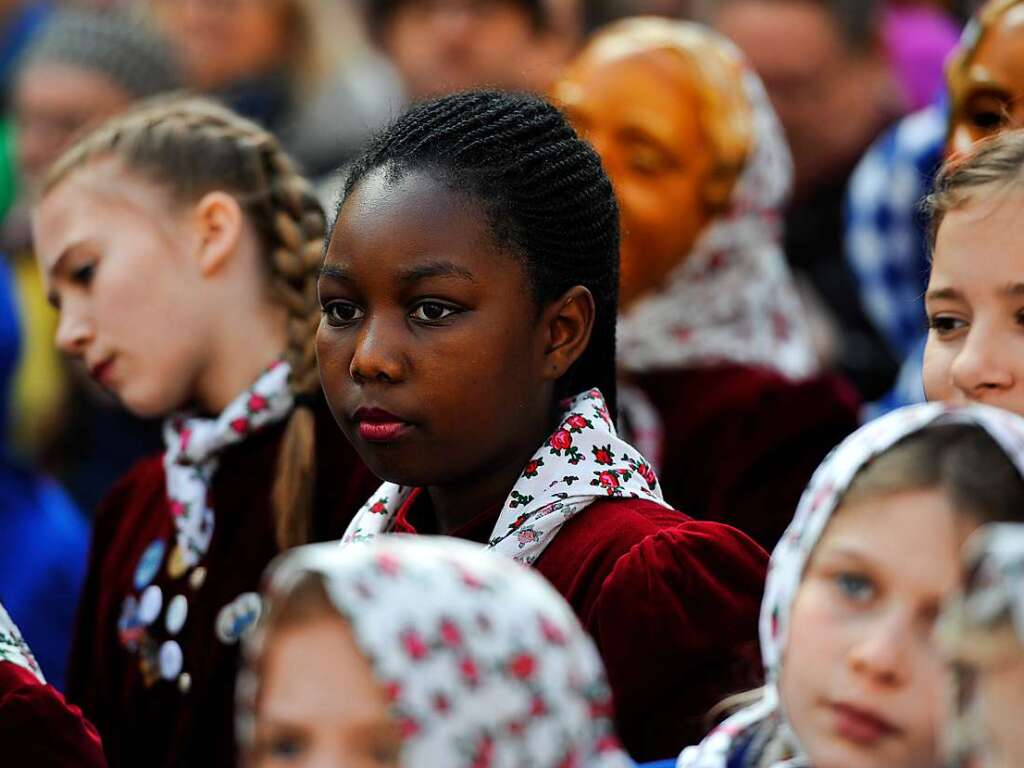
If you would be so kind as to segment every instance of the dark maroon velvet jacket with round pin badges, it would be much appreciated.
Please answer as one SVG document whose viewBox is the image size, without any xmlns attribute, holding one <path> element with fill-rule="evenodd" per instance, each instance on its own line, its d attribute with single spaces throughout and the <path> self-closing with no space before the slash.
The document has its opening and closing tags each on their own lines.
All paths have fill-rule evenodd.
<svg viewBox="0 0 1024 768">
<path fill-rule="evenodd" d="M 195 586 L 187 574 L 172 580 L 166 561 L 152 582 L 163 591 L 165 605 L 176 594 L 187 598 L 187 620 L 173 638 L 190 676 L 187 690 L 180 679 L 146 686 L 140 656 L 119 638 L 122 604 L 126 595 L 137 594 L 140 556 L 157 539 L 173 544 L 162 457 L 137 465 L 101 505 L 72 648 L 69 698 L 98 728 L 114 768 L 234 765 L 239 650 L 217 638 L 215 622 L 222 606 L 259 589 L 264 567 L 278 554 L 270 488 L 283 432 L 283 424 L 267 427 L 221 455 L 210 492 L 216 523 L 201 563 L 203 583 Z M 324 403 L 316 410 L 316 457 L 313 539 L 339 539 L 380 481 Z M 163 612 L 151 629 L 158 645 L 170 637 Z"/>
</svg>

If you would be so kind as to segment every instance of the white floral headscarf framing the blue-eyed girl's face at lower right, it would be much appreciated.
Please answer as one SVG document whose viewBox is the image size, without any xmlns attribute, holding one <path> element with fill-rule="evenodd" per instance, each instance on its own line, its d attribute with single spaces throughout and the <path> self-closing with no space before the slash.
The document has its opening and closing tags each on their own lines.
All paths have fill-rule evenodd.
<svg viewBox="0 0 1024 768">
<path fill-rule="evenodd" d="M 699 745 L 687 748 L 679 758 L 678 768 L 727 768 L 733 752 L 752 739 L 756 749 L 749 750 L 745 768 L 807 765 L 785 723 L 778 693 L 790 613 L 804 569 L 861 468 L 903 438 L 944 424 L 973 424 L 984 429 L 1024 475 L 1024 419 L 986 406 L 909 406 L 870 422 L 844 440 L 814 473 L 793 522 L 772 552 L 761 603 L 761 654 L 767 677 L 763 698 L 727 719 Z"/>
</svg>

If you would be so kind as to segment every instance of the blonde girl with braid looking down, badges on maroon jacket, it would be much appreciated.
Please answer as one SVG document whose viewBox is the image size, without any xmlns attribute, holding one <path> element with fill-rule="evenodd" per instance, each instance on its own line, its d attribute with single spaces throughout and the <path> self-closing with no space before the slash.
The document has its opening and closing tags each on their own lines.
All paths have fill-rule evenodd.
<svg viewBox="0 0 1024 768">
<path fill-rule="evenodd" d="M 325 214 L 266 131 L 195 98 L 100 126 L 33 216 L 57 343 L 166 450 L 96 516 L 69 693 L 113 766 L 232 765 L 238 640 L 281 550 L 375 483 L 321 395 Z"/>
</svg>

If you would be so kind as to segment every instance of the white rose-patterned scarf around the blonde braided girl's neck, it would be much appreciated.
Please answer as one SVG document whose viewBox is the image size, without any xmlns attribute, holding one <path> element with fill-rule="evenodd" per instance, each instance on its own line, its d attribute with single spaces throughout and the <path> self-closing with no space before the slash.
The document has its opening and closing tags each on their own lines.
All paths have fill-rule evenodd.
<svg viewBox="0 0 1024 768">
<path fill-rule="evenodd" d="M 287 362 L 276 361 L 215 419 L 175 415 L 164 423 L 167 498 L 185 568 L 199 563 L 213 539 L 207 497 L 220 453 L 292 412 L 291 373 Z"/>
</svg>

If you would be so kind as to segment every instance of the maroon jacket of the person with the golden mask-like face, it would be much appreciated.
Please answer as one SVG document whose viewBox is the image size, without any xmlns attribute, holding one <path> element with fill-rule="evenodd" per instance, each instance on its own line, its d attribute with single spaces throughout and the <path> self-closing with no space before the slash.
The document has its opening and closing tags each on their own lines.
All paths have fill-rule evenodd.
<svg viewBox="0 0 1024 768">
<path fill-rule="evenodd" d="M 632 383 L 664 422 L 666 501 L 697 519 L 735 525 L 768 551 L 818 464 L 859 426 L 857 395 L 837 376 L 793 382 L 723 365 Z"/>
</svg>

